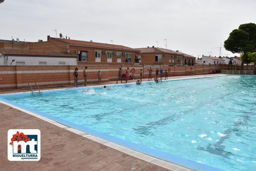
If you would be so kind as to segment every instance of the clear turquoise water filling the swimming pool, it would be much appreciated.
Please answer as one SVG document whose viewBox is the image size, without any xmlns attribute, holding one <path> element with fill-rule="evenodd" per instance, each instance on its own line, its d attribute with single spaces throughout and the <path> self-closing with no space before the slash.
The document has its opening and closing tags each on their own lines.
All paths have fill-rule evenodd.
<svg viewBox="0 0 256 171">
<path fill-rule="evenodd" d="M 224 171 L 256 170 L 256 77 L 221 76 L 1 96 Z"/>
</svg>

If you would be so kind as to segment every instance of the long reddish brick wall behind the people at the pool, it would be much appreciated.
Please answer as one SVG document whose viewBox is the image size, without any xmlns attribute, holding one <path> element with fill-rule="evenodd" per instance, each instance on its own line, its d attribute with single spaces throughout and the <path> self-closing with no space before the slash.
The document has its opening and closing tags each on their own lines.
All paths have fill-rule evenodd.
<svg viewBox="0 0 256 171">
<path fill-rule="evenodd" d="M 79 69 L 79 82 L 83 82 L 84 65 L 76 66 L 0 66 L 0 89 L 21 89 L 26 88 L 30 82 L 32 87 L 38 82 L 40 87 L 72 85 L 74 82 L 73 71 Z M 122 73 L 125 73 L 127 67 L 135 69 L 134 76 L 140 78 L 140 69 L 143 71 L 143 78 L 148 78 L 149 66 L 142 65 L 87 65 L 87 82 L 98 81 L 98 70 L 102 72 L 102 81 L 115 81 L 118 77 L 118 70 L 122 68 Z M 182 67 L 163 67 L 163 70 L 169 72 L 169 76 L 180 75 L 201 75 L 211 74 L 214 70 L 239 70 L 239 66 L 231 65 L 196 65 Z M 152 69 L 152 77 L 155 76 L 155 71 L 160 67 L 154 66 Z M 246 68 L 246 67 L 245 67 Z M 254 69 L 255 67 L 251 67 Z M 160 71 L 159 71 L 160 73 Z"/>
</svg>

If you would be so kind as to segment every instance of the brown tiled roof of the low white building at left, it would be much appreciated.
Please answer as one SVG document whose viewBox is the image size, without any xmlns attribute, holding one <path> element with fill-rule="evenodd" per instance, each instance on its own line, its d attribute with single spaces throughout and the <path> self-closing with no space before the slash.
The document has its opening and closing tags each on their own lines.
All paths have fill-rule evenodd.
<svg viewBox="0 0 256 171">
<path fill-rule="evenodd" d="M 63 56 L 77 57 L 72 53 L 60 51 L 32 50 L 32 49 L 0 49 L 4 55 L 31 55 L 31 56 Z"/>
</svg>

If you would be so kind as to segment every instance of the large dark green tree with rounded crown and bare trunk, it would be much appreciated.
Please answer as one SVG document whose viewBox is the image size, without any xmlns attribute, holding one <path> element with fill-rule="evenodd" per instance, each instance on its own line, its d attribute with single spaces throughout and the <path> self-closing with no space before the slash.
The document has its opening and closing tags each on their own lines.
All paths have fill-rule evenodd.
<svg viewBox="0 0 256 171">
<path fill-rule="evenodd" d="M 247 53 L 256 52 L 256 24 L 241 24 L 238 29 L 234 29 L 224 42 L 224 47 L 232 53 L 243 53 L 241 70 L 244 70 Z"/>
</svg>

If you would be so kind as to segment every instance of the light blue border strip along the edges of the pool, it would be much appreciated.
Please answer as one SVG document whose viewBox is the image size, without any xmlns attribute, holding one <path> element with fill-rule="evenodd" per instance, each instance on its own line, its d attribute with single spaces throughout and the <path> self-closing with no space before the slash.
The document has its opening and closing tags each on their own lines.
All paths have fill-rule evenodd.
<svg viewBox="0 0 256 171">
<path fill-rule="evenodd" d="M 195 78 L 208 78 L 208 77 L 218 77 L 218 76 L 226 76 L 226 75 L 213 75 L 213 76 L 202 76 L 202 77 L 177 78 L 177 79 L 163 80 L 163 81 L 177 81 L 177 80 L 186 80 L 186 79 L 195 79 Z M 251 76 L 251 75 L 248 75 L 248 76 Z M 143 83 L 151 83 L 151 82 L 154 82 L 154 81 L 144 81 Z M 124 84 L 108 84 L 108 86 L 109 87 L 113 87 L 113 86 L 120 86 L 120 85 L 125 85 L 125 84 L 136 84 L 136 83 L 133 82 L 133 83 L 124 83 Z M 56 89 L 56 90 L 43 90 L 42 92 L 53 92 L 53 91 L 74 90 L 74 89 L 75 90 L 79 90 L 79 89 L 85 89 L 85 88 L 97 88 L 97 87 L 102 87 L 102 86 L 103 85 L 88 86 L 88 87 L 76 87 L 76 88 L 65 88 L 65 89 Z M 90 128 L 87 128 L 87 127 L 84 127 L 84 126 L 81 126 L 81 125 L 77 125 L 77 124 L 75 124 L 73 122 L 65 121 L 64 119 L 52 116 L 52 115 L 50 115 L 48 113 L 44 113 L 44 112 L 41 112 L 39 110 L 32 109 L 30 107 L 26 107 L 26 106 L 24 106 L 22 104 L 17 104 L 15 102 L 3 99 L 1 97 L 1 96 L 13 96 L 13 95 L 23 94 L 23 93 L 31 93 L 31 92 L 2 94 L 2 95 L 0 95 L 0 101 L 4 101 L 4 102 L 6 102 L 8 104 L 12 104 L 12 105 L 14 105 L 16 107 L 20 107 L 20 108 L 22 108 L 24 110 L 27 110 L 27 111 L 30 111 L 32 113 L 38 114 L 40 116 L 44 116 L 44 117 L 46 117 L 48 119 L 52 119 L 55 122 L 61 123 L 63 125 L 67 125 L 67 126 L 69 126 L 71 128 L 75 128 L 77 130 L 80 130 L 82 132 L 91 134 L 93 136 L 98 136 L 98 137 L 100 137 L 102 139 L 108 140 L 110 142 L 114 142 L 114 143 L 116 143 L 118 145 L 122 145 L 122 146 L 124 146 L 126 148 L 130 148 L 130 149 L 133 149 L 135 151 L 139 151 L 139 152 L 142 152 L 144 154 L 150 155 L 152 157 L 157 157 L 159 159 L 163 159 L 163 160 L 166 160 L 168 162 L 172 162 L 172 163 L 175 163 L 177 165 L 184 166 L 186 168 L 191 168 L 191 169 L 193 169 L 195 171 L 223 171 L 221 169 L 214 168 L 214 167 L 211 167 L 211 166 L 208 166 L 208 165 L 204 165 L 204 164 L 201 164 L 201 163 L 198 163 L 198 162 L 194 162 L 194 161 L 189 160 L 189 159 L 184 159 L 184 158 L 177 157 L 175 155 L 168 154 L 168 153 L 165 153 L 165 152 L 162 152 L 162 151 L 159 151 L 159 150 L 148 148 L 148 147 L 146 147 L 144 145 L 136 144 L 134 142 L 129 142 L 129 141 L 126 141 L 126 140 L 123 140 L 123 139 L 116 138 L 114 136 L 110 136 L 108 134 L 101 133 L 99 131 L 96 131 L 96 130 L 93 130 L 93 129 L 90 129 Z"/>
</svg>

